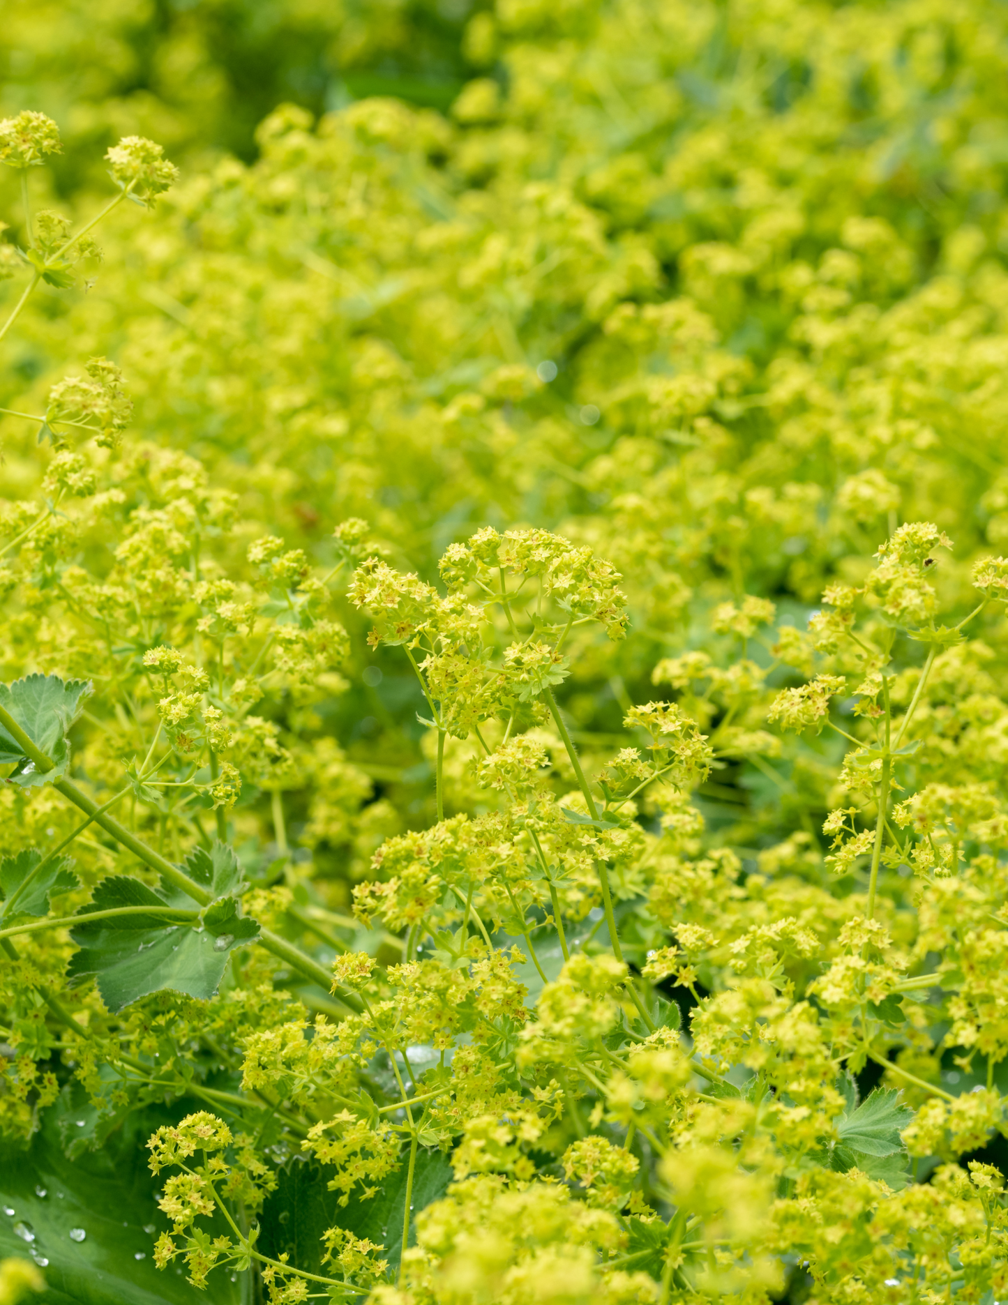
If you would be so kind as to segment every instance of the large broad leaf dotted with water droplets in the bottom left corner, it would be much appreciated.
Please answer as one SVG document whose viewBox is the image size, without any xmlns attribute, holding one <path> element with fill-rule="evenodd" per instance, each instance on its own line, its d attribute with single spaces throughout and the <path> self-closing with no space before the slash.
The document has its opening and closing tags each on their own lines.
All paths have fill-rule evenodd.
<svg viewBox="0 0 1008 1305">
<path fill-rule="evenodd" d="M 157 1208 L 158 1181 L 144 1143 L 178 1114 L 176 1108 L 138 1112 L 99 1151 L 76 1160 L 60 1144 L 59 1105 L 44 1113 L 30 1147 L 0 1143 L 0 1259 L 38 1261 L 47 1291 L 31 1305 L 209 1305 L 210 1298 L 238 1305 L 242 1284 L 227 1274 L 217 1274 L 208 1293 L 174 1268 L 154 1267 L 154 1241 L 168 1221 Z M 64 1122 L 76 1128 L 73 1116 Z M 213 1231 L 227 1229 L 214 1224 Z"/>
</svg>

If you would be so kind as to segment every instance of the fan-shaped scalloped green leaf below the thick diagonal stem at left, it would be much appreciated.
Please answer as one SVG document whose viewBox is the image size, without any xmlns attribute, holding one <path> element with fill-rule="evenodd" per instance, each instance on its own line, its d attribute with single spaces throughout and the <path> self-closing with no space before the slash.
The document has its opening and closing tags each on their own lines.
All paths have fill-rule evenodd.
<svg viewBox="0 0 1008 1305">
<path fill-rule="evenodd" d="M 166 904 L 165 897 L 137 880 L 103 880 L 90 904 L 78 912 L 81 924 L 71 930 L 81 950 L 71 957 L 68 976 L 94 975 L 102 1001 L 114 1013 L 166 988 L 201 1001 L 213 997 L 234 949 L 259 937 L 259 924 L 239 916 L 234 898 L 212 903 L 196 925 L 166 925 L 153 914 L 87 924 L 91 911 Z"/>
</svg>

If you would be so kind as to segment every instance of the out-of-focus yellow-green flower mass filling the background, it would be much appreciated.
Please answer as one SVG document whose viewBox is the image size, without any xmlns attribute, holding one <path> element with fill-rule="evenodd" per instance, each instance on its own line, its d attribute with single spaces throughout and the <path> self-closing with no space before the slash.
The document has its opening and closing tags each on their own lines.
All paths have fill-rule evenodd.
<svg viewBox="0 0 1008 1305">
<path fill-rule="evenodd" d="M 95 211 L 124 132 L 183 180 L 102 230 L 93 286 L 39 292 L 0 405 L 42 411 L 115 359 L 131 475 L 151 467 L 124 519 L 171 500 L 167 450 L 192 457 L 239 495 L 232 572 L 265 532 L 328 566 L 350 515 L 427 577 L 484 523 L 590 542 L 633 633 L 615 666 L 576 650 L 568 706 L 618 729 L 659 656 L 731 660 L 718 602 L 803 625 L 906 519 L 956 540 L 952 603 L 1004 549 L 1007 37 L 986 0 L 8 0 L 0 107 L 68 142 L 39 201 Z M 48 453 L 13 418 L 0 441 L 5 496 L 30 497 Z M 388 765 L 380 792 L 426 792 L 422 758 L 402 771 L 413 686 L 384 675 L 319 728 Z M 825 808 L 815 758 L 780 766 Z M 790 817 L 736 771 L 719 810 L 760 846 Z"/>
</svg>

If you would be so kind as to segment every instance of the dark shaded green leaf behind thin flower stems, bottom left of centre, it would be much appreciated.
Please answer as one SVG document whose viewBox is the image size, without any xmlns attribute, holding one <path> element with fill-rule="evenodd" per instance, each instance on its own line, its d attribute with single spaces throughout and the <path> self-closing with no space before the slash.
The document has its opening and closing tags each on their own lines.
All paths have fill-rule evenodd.
<svg viewBox="0 0 1008 1305">
<path fill-rule="evenodd" d="M 290 1251 L 291 1263 L 308 1272 L 324 1272 L 321 1263 L 321 1236 L 326 1228 L 349 1228 L 358 1237 L 367 1237 L 385 1248 L 394 1276 L 402 1250 L 402 1212 L 406 1199 L 406 1156 L 390 1173 L 370 1201 L 350 1198 L 341 1207 L 338 1195 L 326 1189 L 326 1171 L 316 1164 L 296 1163 L 277 1173 L 277 1190 L 266 1199 L 260 1220 L 262 1232 L 259 1249 L 266 1255 Z M 432 1201 L 439 1201 L 452 1181 L 452 1165 L 440 1151 L 417 1152 L 413 1178 L 413 1212 L 410 1215 L 410 1245 L 413 1245 L 417 1215 Z"/>
</svg>

